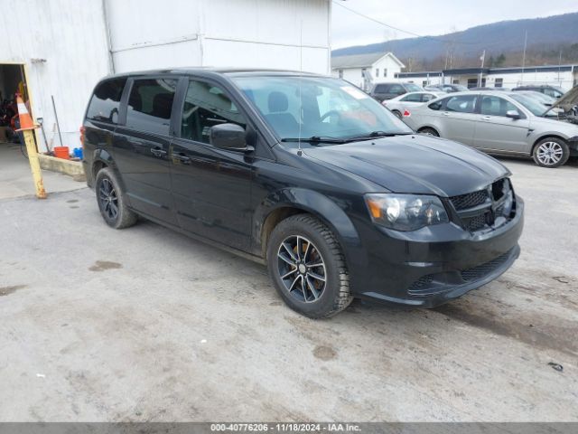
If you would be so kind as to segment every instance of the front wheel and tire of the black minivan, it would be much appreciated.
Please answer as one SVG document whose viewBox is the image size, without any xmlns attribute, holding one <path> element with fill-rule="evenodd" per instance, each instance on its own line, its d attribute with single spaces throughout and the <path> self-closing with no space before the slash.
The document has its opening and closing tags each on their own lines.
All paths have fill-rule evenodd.
<svg viewBox="0 0 578 434">
<path fill-rule="evenodd" d="M 292 241 L 289 240 L 295 238 L 297 241 L 291 249 Z M 302 240 L 301 246 L 299 239 Z M 289 246 L 290 250 L 286 250 L 284 245 Z M 297 255 L 300 250 L 301 253 Z M 285 259 L 281 259 L 280 254 Z M 303 267 L 290 265 L 286 260 L 292 260 L 294 256 L 303 259 Z M 319 263 L 323 265 L 315 266 Z M 353 299 L 350 276 L 339 241 L 325 224 L 310 214 L 294 215 L 275 227 L 267 243 L 267 268 L 284 302 L 303 316 L 325 318 L 336 315 Z M 292 269 L 294 274 L 284 279 L 284 275 Z M 291 283 L 295 285 L 291 285 L 293 290 L 288 288 Z"/>
</svg>

